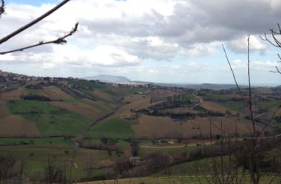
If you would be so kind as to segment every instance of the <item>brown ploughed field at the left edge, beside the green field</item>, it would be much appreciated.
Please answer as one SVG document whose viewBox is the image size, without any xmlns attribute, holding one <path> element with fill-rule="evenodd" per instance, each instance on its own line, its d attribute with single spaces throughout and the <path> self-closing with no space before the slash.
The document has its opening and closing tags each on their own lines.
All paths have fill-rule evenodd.
<svg viewBox="0 0 281 184">
<path fill-rule="evenodd" d="M 37 126 L 21 117 L 12 115 L 6 110 L 5 103 L 0 101 L 0 136 L 1 137 L 38 137 Z"/>
</svg>

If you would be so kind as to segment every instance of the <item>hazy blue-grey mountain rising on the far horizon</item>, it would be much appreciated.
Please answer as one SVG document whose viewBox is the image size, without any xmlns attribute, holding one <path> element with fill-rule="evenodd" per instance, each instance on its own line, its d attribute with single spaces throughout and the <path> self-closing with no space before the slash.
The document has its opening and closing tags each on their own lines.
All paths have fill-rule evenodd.
<svg viewBox="0 0 281 184">
<path fill-rule="evenodd" d="M 131 80 L 124 76 L 115 76 L 115 75 L 108 75 L 108 74 L 98 74 L 92 77 L 84 77 L 87 80 L 98 80 L 107 83 L 130 83 Z"/>
</svg>

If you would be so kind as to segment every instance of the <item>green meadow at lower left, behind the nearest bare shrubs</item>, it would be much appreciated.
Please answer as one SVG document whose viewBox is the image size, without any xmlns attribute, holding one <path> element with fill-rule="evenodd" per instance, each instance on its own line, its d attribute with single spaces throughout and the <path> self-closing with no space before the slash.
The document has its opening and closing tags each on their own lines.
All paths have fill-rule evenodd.
<svg viewBox="0 0 281 184">
<path fill-rule="evenodd" d="M 69 162 L 74 155 L 74 145 L 68 143 L 41 143 L 34 145 L 19 145 L 19 146 L 1 146 L 1 155 L 11 155 L 18 160 L 25 161 L 25 174 L 27 176 L 34 176 L 37 172 L 44 173 L 44 168 L 47 164 L 48 156 L 51 161 L 56 164 L 63 164 Z M 77 150 L 77 149 L 75 149 Z M 112 152 L 110 157 L 107 151 L 104 150 L 86 150 L 79 149 L 76 151 L 74 163 L 77 164 L 78 169 L 73 170 L 75 178 L 82 178 L 86 176 L 84 168 L 89 160 L 92 159 L 93 163 L 99 163 L 103 160 L 116 160 L 119 159 L 115 153 Z"/>
</svg>

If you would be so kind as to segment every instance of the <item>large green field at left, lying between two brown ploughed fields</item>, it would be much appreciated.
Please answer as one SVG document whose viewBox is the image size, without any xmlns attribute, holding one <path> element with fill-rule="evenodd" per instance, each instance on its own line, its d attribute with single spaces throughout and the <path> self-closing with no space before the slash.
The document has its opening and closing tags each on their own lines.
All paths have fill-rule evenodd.
<svg viewBox="0 0 281 184">
<path fill-rule="evenodd" d="M 48 103 L 34 100 L 20 100 L 10 103 L 13 114 L 34 121 L 42 136 L 72 135 L 83 133 L 90 120 L 74 112 L 60 109 Z"/>
</svg>

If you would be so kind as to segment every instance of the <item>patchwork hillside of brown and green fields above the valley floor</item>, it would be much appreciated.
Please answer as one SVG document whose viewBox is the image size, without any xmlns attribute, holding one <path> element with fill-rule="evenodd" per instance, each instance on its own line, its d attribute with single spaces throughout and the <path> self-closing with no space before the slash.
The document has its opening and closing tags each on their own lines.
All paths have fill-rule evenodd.
<svg viewBox="0 0 281 184">
<path fill-rule="evenodd" d="M 22 77 L 25 80 L 28 78 Z M 13 87 L 6 86 L 0 98 L 2 137 L 79 136 L 85 133 L 99 137 L 115 126 L 112 119 L 129 123 L 131 133 L 128 136 L 124 133 L 122 138 L 195 138 L 200 132 L 207 136 L 209 116 L 214 119 L 214 124 L 223 119 L 225 129 L 230 130 L 233 130 L 235 119 L 243 117 L 240 119 L 243 123 L 237 124 L 241 134 L 247 133 L 249 124 L 242 98 L 235 89 L 212 91 L 151 84 L 115 85 L 48 77 L 9 83 Z M 262 112 L 274 110 L 280 101 L 275 88 L 256 88 L 254 92 L 256 107 Z M 259 122 L 264 124 L 266 118 L 266 115 L 260 117 Z M 18 127 L 27 124 L 26 127 L 33 128 L 11 131 L 13 124 L 10 121 Z M 96 130 L 101 126 L 96 124 L 106 122 L 111 122 L 111 125 L 103 131 Z M 156 127 L 161 128 L 155 131 Z M 219 133 L 216 128 L 213 131 Z M 114 130 L 109 134 L 115 135 Z"/>
</svg>

